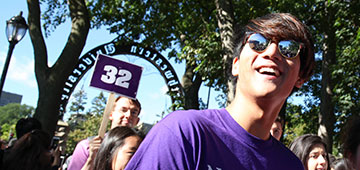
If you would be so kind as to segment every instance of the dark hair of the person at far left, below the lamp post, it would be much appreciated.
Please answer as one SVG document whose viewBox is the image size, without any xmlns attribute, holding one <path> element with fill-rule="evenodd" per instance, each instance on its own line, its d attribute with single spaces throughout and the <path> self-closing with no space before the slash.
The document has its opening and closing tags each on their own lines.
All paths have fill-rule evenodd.
<svg viewBox="0 0 360 170">
<path fill-rule="evenodd" d="M 29 118 L 21 118 L 16 123 L 16 137 L 20 139 L 23 135 L 25 135 L 28 132 L 31 132 L 32 130 L 41 130 L 42 126 L 39 120 L 29 117 Z"/>
</svg>

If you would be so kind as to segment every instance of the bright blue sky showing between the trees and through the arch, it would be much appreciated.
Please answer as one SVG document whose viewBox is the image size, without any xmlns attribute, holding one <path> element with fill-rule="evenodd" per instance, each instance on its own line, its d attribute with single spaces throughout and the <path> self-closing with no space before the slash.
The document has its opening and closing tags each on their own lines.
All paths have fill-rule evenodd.
<svg viewBox="0 0 360 170">
<path fill-rule="evenodd" d="M 6 38 L 6 21 L 16 16 L 23 11 L 23 17 L 27 21 L 28 9 L 26 1 L 12 0 L 4 1 L 0 6 L 0 69 L 1 73 L 4 67 L 4 62 L 9 49 L 9 42 Z M 1 26 L 2 24 L 2 26 Z M 48 51 L 48 65 L 52 66 L 57 57 L 61 53 L 61 50 L 65 46 L 67 37 L 69 35 L 71 25 L 69 22 L 60 25 L 55 32 L 52 32 L 50 37 L 45 38 L 47 51 Z M 90 51 L 91 49 L 110 42 L 116 38 L 116 35 L 108 33 L 106 29 L 90 30 L 86 45 L 82 51 L 82 55 Z M 29 32 L 25 37 L 16 44 L 9 64 L 9 69 L 6 75 L 3 91 L 11 92 L 22 95 L 21 104 L 30 105 L 36 107 L 38 100 L 38 89 L 34 73 L 34 53 L 31 44 Z M 82 56 L 81 55 L 81 56 Z M 162 52 L 162 55 L 167 58 L 167 53 Z M 160 120 L 157 114 L 166 110 L 171 105 L 171 99 L 165 95 L 167 87 L 164 79 L 156 68 L 144 59 L 135 56 L 114 56 L 115 58 L 121 58 L 121 60 L 134 63 L 136 65 L 144 67 L 144 71 L 140 80 L 137 98 L 141 102 L 142 111 L 140 114 L 141 122 L 154 123 Z M 184 73 L 184 64 L 175 64 L 173 60 L 170 63 L 174 67 L 179 80 Z M 89 82 L 92 76 L 93 68 L 90 69 L 82 80 L 77 84 L 74 92 L 81 88 L 87 93 L 87 105 L 86 110 L 90 108 L 91 100 L 96 97 L 101 91 L 89 87 Z M 156 81 L 154 81 L 156 80 Z M 199 97 L 203 101 L 207 102 L 208 87 L 202 86 L 200 88 Z M 104 92 L 107 97 L 109 93 Z M 213 89 L 210 93 L 209 108 L 219 108 L 215 97 L 218 92 Z M 67 106 L 71 103 L 71 98 Z M 65 116 L 65 118 L 68 115 Z"/>
</svg>

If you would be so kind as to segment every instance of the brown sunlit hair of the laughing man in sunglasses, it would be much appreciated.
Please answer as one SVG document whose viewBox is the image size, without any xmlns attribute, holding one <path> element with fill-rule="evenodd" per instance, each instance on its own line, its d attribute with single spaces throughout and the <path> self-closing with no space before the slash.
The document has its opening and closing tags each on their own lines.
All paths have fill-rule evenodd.
<svg viewBox="0 0 360 170">
<path fill-rule="evenodd" d="M 234 40 L 233 57 L 239 57 L 246 32 L 256 32 L 273 41 L 294 40 L 304 44 L 300 51 L 300 78 L 309 80 L 315 66 L 314 43 L 308 27 L 288 13 L 272 13 L 253 19 L 245 28 L 238 30 Z"/>
</svg>

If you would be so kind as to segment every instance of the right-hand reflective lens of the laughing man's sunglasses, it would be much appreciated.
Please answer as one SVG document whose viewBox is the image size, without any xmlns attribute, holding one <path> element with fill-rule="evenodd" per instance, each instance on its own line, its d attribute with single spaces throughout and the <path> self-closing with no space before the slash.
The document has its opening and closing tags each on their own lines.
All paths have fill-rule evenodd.
<svg viewBox="0 0 360 170">
<path fill-rule="evenodd" d="M 286 58 L 295 58 L 300 51 L 300 43 L 292 40 L 280 41 L 279 51 Z"/>
</svg>

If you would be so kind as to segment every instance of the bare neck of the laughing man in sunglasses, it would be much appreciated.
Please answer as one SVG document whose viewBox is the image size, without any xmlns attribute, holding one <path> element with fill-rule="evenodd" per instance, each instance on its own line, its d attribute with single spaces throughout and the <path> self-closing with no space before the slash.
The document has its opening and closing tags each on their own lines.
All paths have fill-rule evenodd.
<svg viewBox="0 0 360 170">
<path fill-rule="evenodd" d="M 270 137 L 272 123 L 278 116 L 284 101 L 249 100 L 244 97 L 235 97 L 226 110 L 247 132 L 267 140 Z"/>
</svg>

